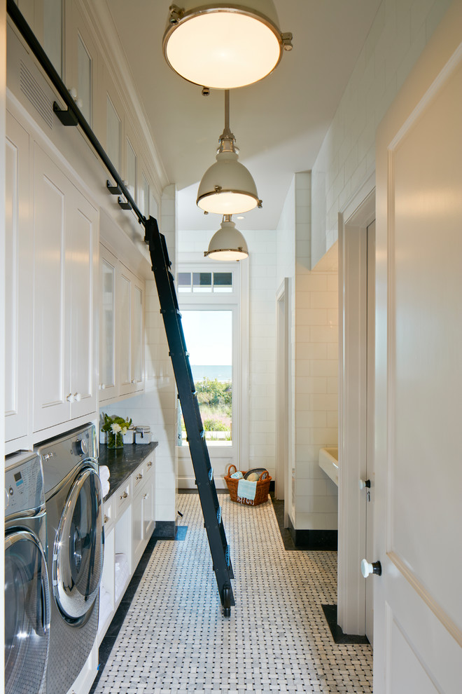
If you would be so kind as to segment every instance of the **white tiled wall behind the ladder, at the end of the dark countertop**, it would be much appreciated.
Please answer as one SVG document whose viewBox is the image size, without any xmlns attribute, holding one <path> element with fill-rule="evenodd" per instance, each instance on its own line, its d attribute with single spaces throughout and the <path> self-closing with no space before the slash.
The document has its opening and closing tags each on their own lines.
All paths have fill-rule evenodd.
<svg viewBox="0 0 462 694">
<path fill-rule="evenodd" d="M 169 258 L 176 259 L 174 186 L 167 186 L 162 193 L 160 231 L 165 234 Z M 176 479 L 177 467 L 176 430 L 176 383 L 169 358 L 169 348 L 154 278 L 146 280 L 145 294 L 145 357 L 146 376 L 144 393 L 102 406 L 107 414 L 131 417 L 135 423 L 151 426 L 153 440 L 158 441 L 155 449 L 155 520 L 176 522 Z"/>
</svg>

